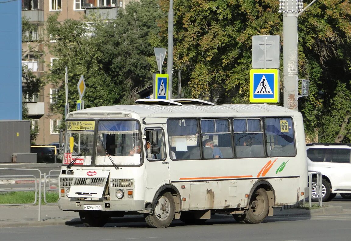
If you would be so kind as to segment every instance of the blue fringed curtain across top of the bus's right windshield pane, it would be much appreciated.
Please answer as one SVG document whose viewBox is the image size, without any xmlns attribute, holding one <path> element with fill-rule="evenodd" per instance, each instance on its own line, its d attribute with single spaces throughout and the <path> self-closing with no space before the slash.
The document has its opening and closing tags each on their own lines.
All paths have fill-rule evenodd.
<svg viewBox="0 0 351 241">
<path fill-rule="evenodd" d="M 131 134 L 137 133 L 139 124 L 136 121 L 100 121 L 99 133 L 105 134 Z"/>
</svg>

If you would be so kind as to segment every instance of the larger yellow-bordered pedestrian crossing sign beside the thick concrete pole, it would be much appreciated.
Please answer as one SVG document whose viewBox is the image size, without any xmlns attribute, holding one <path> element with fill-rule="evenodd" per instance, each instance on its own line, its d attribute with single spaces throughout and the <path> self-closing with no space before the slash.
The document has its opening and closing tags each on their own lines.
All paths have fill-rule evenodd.
<svg viewBox="0 0 351 241">
<path fill-rule="evenodd" d="M 250 102 L 279 102 L 279 71 L 277 69 L 250 70 Z"/>
</svg>

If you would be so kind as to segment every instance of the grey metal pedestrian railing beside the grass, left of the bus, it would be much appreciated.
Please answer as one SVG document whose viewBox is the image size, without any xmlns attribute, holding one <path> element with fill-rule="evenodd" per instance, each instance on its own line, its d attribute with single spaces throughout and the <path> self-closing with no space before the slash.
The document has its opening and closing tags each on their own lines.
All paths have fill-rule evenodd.
<svg viewBox="0 0 351 241">
<path fill-rule="evenodd" d="M 1 170 L 26 170 L 26 171 L 38 171 L 39 172 L 39 177 L 37 178 L 35 175 L 0 175 L 0 180 L 1 179 L 11 179 L 11 180 L 21 180 L 23 178 L 26 178 L 26 180 L 33 180 L 34 182 L 34 188 L 30 187 L 30 188 L 11 188 L 11 189 L 0 189 L 0 192 L 28 192 L 28 191 L 34 191 L 35 195 L 34 195 L 34 201 L 32 203 L 27 203 L 27 204 L 0 204 L 0 206 L 28 206 L 28 205 L 36 205 L 37 201 L 38 201 L 38 221 L 41 221 L 41 198 L 44 198 L 44 202 L 46 204 L 57 204 L 57 202 L 47 202 L 46 201 L 46 183 L 48 183 L 49 185 L 49 191 L 59 191 L 59 187 L 57 188 L 52 188 L 51 187 L 51 183 L 53 182 L 52 177 L 57 177 L 59 176 L 59 174 L 51 174 L 54 171 L 60 171 L 60 170 L 51 170 L 49 171 L 49 174 L 46 175 L 44 173 L 44 180 L 42 181 L 42 174 L 41 171 L 39 169 L 32 169 L 32 168 L 0 168 Z M 44 196 L 42 197 L 41 194 L 41 188 L 42 188 L 42 183 L 44 183 L 43 188 L 44 188 Z M 57 180 L 58 183 L 58 180 Z M 39 185 L 38 185 L 39 184 Z M 39 196 L 39 198 L 38 198 Z"/>
</svg>

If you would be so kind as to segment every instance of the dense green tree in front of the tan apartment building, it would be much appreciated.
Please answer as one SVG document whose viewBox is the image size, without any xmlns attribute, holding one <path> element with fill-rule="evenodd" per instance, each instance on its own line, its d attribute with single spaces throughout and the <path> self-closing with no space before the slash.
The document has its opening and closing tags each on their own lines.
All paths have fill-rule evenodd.
<svg viewBox="0 0 351 241">
<path fill-rule="evenodd" d="M 137 90 L 152 83 L 156 67 L 153 44 L 159 42 L 157 19 L 163 13 L 157 1 L 131 2 L 120 9 L 117 19 L 101 21 L 99 16 L 83 21 L 67 19 L 58 22 L 56 15 L 48 18 L 47 34 L 55 36 L 48 44 L 58 57 L 47 80 L 60 87 L 53 111 L 64 113 L 65 67 L 68 67 L 70 110 L 79 99 L 77 83 L 84 75 L 85 108 L 101 105 L 131 104 Z M 89 24 L 87 24 L 89 22 Z"/>
</svg>

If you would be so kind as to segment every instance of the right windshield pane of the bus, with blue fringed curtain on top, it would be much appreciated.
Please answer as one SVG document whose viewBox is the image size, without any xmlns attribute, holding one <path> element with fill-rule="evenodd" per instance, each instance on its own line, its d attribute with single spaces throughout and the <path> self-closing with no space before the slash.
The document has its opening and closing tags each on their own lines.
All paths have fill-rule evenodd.
<svg viewBox="0 0 351 241">
<path fill-rule="evenodd" d="M 141 144 L 137 121 L 99 121 L 96 165 L 139 165 Z"/>
</svg>

